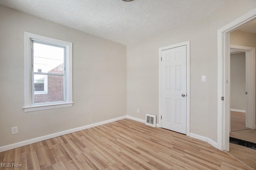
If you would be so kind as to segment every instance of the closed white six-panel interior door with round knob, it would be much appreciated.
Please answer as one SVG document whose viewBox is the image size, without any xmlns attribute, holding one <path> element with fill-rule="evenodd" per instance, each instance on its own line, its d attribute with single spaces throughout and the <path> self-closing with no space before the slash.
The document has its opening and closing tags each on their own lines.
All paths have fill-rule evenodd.
<svg viewBox="0 0 256 170">
<path fill-rule="evenodd" d="M 162 51 L 162 128 L 186 134 L 186 45 Z"/>
</svg>

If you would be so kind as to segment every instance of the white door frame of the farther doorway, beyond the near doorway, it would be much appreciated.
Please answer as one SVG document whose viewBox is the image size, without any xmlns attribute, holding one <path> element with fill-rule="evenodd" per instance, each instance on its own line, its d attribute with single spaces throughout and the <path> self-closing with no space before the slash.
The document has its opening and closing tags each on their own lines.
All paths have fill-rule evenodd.
<svg viewBox="0 0 256 170">
<path fill-rule="evenodd" d="M 231 50 L 245 52 L 246 60 L 246 127 L 255 129 L 255 47 L 231 45 Z"/>
</svg>

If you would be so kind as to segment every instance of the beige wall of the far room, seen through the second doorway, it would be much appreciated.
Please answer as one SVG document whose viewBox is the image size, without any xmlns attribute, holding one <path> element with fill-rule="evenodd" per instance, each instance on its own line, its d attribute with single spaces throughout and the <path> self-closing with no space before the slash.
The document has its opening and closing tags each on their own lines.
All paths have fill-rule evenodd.
<svg viewBox="0 0 256 170">
<path fill-rule="evenodd" d="M 230 55 L 230 108 L 246 110 L 245 53 Z"/>
</svg>

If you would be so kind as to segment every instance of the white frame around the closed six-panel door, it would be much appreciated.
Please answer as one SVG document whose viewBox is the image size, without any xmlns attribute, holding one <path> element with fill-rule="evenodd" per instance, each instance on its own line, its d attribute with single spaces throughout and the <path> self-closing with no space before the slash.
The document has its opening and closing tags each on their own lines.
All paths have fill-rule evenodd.
<svg viewBox="0 0 256 170">
<path fill-rule="evenodd" d="M 182 43 L 178 43 L 178 44 L 174 44 L 174 45 L 168 45 L 166 47 L 161 47 L 159 48 L 159 58 L 158 58 L 158 65 L 159 65 L 159 79 L 158 79 L 158 125 L 159 127 L 162 127 L 162 121 L 161 121 L 161 100 L 162 100 L 162 96 L 161 96 L 161 87 L 162 87 L 162 64 L 161 64 L 161 57 L 162 57 L 162 51 L 163 50 L 167 50 L 167 49 L 172 49 L 172 48 L 176 48 L 176 47 L 180 47 L 180 46 L 184 46 L 186 45 L 186 68 L 187 68 L 187 72 L 186 72 L 186 77 L 187 77 L 187 98 L 186 98 L 186 135 L 190 136 L 190 41 L 185 41 Z"/>
</svg>

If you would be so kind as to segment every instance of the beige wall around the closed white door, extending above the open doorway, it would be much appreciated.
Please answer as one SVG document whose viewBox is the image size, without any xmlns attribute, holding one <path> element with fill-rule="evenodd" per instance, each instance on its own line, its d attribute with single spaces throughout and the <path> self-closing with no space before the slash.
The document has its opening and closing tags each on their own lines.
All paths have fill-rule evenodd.
<svg viewBox="0 0 256 170">
<path fill-rule="evenodd" d="M 190 132 L 216 142 L 217 30 L 254 8 L 255 0 L 230 0 L 209 18 L 128 45 L 127 114 L 158 115 L 158 48 L 190 40 Z"/>
</svg>

